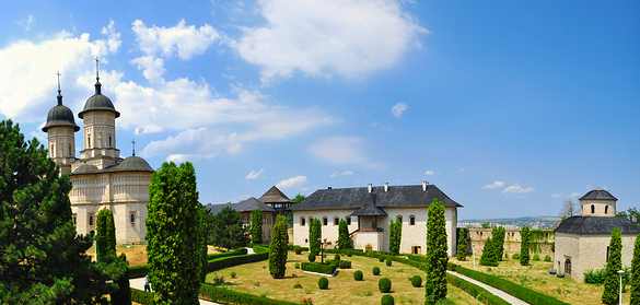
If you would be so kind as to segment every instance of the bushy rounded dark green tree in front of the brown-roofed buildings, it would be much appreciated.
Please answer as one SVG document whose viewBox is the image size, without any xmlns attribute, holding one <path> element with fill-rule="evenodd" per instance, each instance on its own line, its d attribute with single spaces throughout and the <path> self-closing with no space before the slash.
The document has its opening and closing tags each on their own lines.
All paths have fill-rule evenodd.
<svg viewBox="0 0 640 305">
<path fill-rule="evenodd" d="M 213 246 L 231 250 L 248 244 L 247 226 L 240 219 L 240 212 L 231 207 L 224 207 L 216 214 L 211 225 L 211 244 Z"/>
</svg>

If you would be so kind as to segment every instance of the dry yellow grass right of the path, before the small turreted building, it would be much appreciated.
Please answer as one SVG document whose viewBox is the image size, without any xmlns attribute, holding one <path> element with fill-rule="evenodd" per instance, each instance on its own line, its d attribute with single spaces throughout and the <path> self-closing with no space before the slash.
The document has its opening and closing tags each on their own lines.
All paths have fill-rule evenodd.
<svg viewBox="0 0 640 305">
<path fill-rule="evenodd" d="M 476 270 L 500 277 L 569 304 L 602 304 L 603 285 L 577 283 L 571 279 L 558 278 L 547 272 L 547 267 L 552 266 L 551 262 L 530 260 L 530 266 L 521 266 L 519 260 L 511 259 L 511 256 L 512 254 L 509 254 L 510 258 L 500 261 L 500 266 L 490 268 L 480 266 L 480 259 L 476 256 Z M 474 268 L 472 257 L 467 257 L 466 261 L 458 261 L 455 258 L 450 258 L 450 261 L 465 268 Z M 627 292 L 622 293 L 622 303 L 628 304 L 629 297 L 627 286 Z"/>
</svg>

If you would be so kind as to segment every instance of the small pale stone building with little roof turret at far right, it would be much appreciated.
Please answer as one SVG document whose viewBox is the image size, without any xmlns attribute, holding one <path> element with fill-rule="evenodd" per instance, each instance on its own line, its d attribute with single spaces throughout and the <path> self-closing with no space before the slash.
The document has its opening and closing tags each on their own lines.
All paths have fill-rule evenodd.
<svg viewBox="0 0 640 305">
<path fill-rule="evenodd" d="M 631 265 L 633 243 L 640 227 L 628 219 L 616 216 L 617 200 L 602 188 L 580 198 L 580 215 L 566 219 L 556 228 L 556 270 L 582 282 L 584 272 L 603 269 L 609 256 L 612 232 L 616 227 L 622 234 L 622 267 Z"/>
</svg>

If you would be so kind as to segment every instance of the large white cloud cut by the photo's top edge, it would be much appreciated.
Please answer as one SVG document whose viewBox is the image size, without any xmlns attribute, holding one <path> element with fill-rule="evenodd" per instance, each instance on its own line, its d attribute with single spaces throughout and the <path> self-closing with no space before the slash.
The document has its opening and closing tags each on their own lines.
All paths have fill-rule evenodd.
<svg viewBox="0 0 640 305">
<path fill-rule="evenodd" d="M 240 56 L 261 68 L 263 83 L 294 71 L 358 77 L 393 66 L 417 36 L 429 33 L 395 0 L 261 0 L 267 24 L 243 28 L 232 42 Z"/>
</svg>

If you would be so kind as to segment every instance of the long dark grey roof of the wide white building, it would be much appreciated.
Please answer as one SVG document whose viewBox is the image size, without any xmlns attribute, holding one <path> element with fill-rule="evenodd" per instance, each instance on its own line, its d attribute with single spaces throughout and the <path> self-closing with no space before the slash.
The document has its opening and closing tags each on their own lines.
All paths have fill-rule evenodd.
<svg viewBox="0 0 640 305">
<path fill-rule="evenodd" d="M 421 185 L 389 186 L 387 191 L 384 191 L 384 187 L 373 187 L 371 193 L 375 195 L 374 203 L 377 208 L 428 207 L 434 198 L 445 207 L 463 207 L 434 185 L 428 185 L 427 190 L 422 190 Z M 368 200 L 371 197 L 366 187 L 318 189 L 290 210 L 360 209 Z"/>
</svg>

